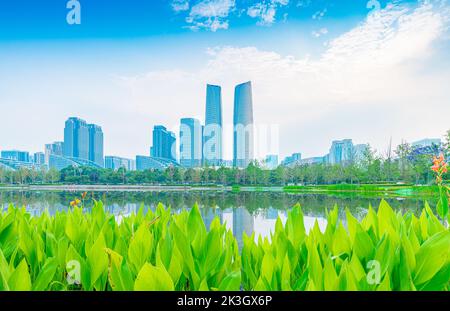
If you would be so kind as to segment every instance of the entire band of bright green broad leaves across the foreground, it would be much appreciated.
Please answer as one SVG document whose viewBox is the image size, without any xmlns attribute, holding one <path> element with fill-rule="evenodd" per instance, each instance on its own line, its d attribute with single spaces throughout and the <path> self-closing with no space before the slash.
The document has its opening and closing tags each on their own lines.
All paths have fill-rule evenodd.
<svg viewBox="0 0 450 311">
<path fill-rule="evenodd" d="M 419 218 L 385 201 L 362 221 L 347 211 L 348 229 L 335 208 L 324 232 L 306 232 L 296 206 L 272 242 L 244 236 L 239 251 L 218 218 L 207 230 L 197 206 L 116 217 L 101 202 L 88 213 L 72 202 L 53 216 L 0 212 L 0 290 L 449 289 L 450 232 L 428 205 Z M 379 284 L 367 281 L 373 260 Z"/>
</svg>

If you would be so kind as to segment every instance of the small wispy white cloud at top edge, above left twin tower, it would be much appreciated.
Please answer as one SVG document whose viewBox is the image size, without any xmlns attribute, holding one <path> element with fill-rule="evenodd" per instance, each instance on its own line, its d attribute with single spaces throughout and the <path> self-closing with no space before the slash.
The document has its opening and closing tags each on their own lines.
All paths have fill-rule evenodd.
<svg viewBox="0 0 450 311">
<path fill-rule="evenodd" d="M 192 6 L 186 22 L 192 30 L 228 29 L 228 16 L 235 5 L 235 0 L 202 0 Z"/>
</svg>

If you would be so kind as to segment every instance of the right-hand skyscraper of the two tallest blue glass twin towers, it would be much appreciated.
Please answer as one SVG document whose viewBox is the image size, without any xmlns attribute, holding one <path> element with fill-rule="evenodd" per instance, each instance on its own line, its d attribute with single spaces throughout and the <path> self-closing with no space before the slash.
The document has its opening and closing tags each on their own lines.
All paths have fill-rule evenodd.
<svg viewBox="0 0 450 311">
<path fill-rule="evenodd" d="M 254 159 L 252 84 L 246 82 L 234 91 L 233 165 L 245 168 Z"/>
</svg>

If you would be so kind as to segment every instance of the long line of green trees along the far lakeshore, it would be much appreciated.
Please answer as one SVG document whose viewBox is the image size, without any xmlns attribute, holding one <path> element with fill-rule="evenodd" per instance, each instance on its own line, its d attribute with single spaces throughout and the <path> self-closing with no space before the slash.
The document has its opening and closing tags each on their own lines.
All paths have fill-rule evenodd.
<svg viewBox="0 0 450 311">
<path fill-rule="evenodd" d="M 245 169 L 220 167 L 182 168 L 165 170 L 127 171 L 96 169 L 92 167 L 67 167 L 61 171 L 21 168 L 8 171 L 0 168 L 0 184 L 167 184 L 167 185 L 261 185 L 287 184 L 363 184 L 363 183 L 413 183 L 430 184 L 433 155 L 443 152 L 450 157 L 450 131 L 442 148 L 434 146 L 423 153 L 404 142 L 395 150 L 384 154 L 367 149 L 358 162 L 345 164 L 312 164 L 293 167 L 278 166 L 265 169 L 252 162 Z M 448 176 L 447 176 L 448 178 Z"/>
</svg>

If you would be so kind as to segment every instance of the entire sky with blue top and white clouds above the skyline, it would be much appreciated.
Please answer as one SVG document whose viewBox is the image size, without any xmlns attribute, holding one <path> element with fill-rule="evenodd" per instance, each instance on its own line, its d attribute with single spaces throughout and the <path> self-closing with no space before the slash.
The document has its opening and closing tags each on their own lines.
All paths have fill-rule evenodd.
<svg viewBox="0 0 450 311">
<path fill-rule="evenodd" d="M 79 24 L 67 20 L 74 2 Z M 276 133 L 258 157 L 441 138 L 449 22 L 448 0 L 1 1 L 0 150 L 43 151 L 78 116 L 102 126 L 105 155 L 148 155 L 154 125 L 203 122 L 210 83 L 222 86 L 230 159 L 246 81 L 258 137 Z"/>
</svg>

